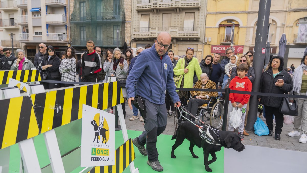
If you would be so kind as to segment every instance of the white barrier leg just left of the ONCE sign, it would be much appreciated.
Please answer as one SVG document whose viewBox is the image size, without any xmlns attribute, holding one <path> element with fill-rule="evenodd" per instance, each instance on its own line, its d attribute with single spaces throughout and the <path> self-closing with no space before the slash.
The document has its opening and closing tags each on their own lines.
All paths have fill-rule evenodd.
<svg viewBox="0 0 307 173">
<path fill-rule="evenodd" d="M 43 135 L 46 142 L 52 172 L 65 172 L 54 129 L 45 132 Z"/>
</svg>

